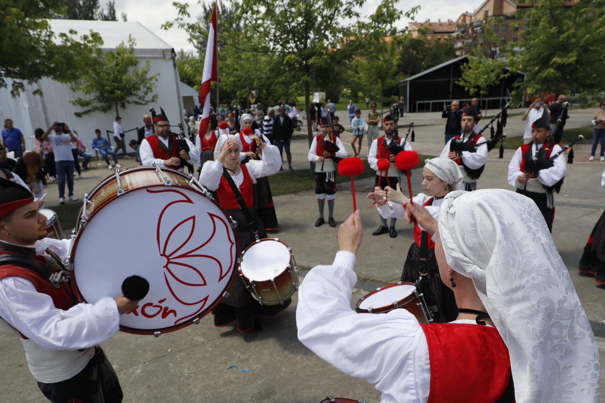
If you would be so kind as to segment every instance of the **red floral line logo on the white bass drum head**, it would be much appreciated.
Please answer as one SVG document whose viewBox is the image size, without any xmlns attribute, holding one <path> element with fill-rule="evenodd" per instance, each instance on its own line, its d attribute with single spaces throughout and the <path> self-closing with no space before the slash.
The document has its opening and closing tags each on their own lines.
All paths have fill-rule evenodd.
<svg viewBox="0 0 605 403">
<path fill-rule="evenodd" d="M 207 284 L 206 278 L 204 278 L 204 275 L 197 268 L 200 267 L 199 259 L 208 259 L 218 265 L 220 270 L 220 275 L 218 277 L 219 282 L 229 275 L 231 268 L 233 267 L 233 258 L 231 258 L 231 262 L 229 263 L 228 267 L 223 267 L 223 264 L 220 262 L 220 260 L 210 254 L 203 253 L 204 246 L 208 245 L 212 238 L 214 238 L 215 234 L 217 234 L 217 231 L 222 231 L 223 229 L 227 234 L 227 240 L 229 242 L 229 244 L 226 244 L 225 246 L 229 247 L 231 257 L 234 255 L 232 252 L 236 244 L 231 237 L 231 232 L 229 231 L 228 224 L 224 218 L 212 214 L 211 212 L 207 212 L 206 214 L 208 214 L 212 221 L 212 233 L 208 239 L 204 240 L 201 244 L 197 244 L 197 242 L 192 240 L 196 226 L 195 215 L 184 217 L 182 220 L 175 220 L 174 222 L 166 222 L 169 219 L 164 217 L 164 214 L 168 208 L 176 203 L 190 203 L 193 205 L 194 202 L 191 200 L 191 198 L 176 189 L 146 190 L 149 193 L 174 192 L 182 197 L 180 200 L 175 200 L 168 203 L 163 208 L 157 221 L 157 247 L 160 257 L 165 258 L 163 274 L 166 281 L 166 286 L 168 286 L 168 290 L 172 294 L 172 297 L 174 297 L 179 303 L 185 306 L 197 308 L 195 309 L 195 312 L 175 320 L 174 323 L 177 324 L 184 319 L 197 315 L 197 313 L 204 309 L 204 306 L 206 306 L 206 303 L 208 302 L 208 294 L 206 294 L 206 296 L 203 298 L 199 298 L 200 295 L 204 295 L 202 287 L 206 286 Z M 180 211 L 186 212 L 186 209 L 183 208 L 180 209 Z M 172 214 L 172 216 L 174 216 L 174 214 Z M 174 220 L 174 218 L 172 219 Z M 171 228 L 171 230 L 168 232 L 168 235 L 163 236 L 162 232 L 160 232 L 160 228 Z M 165 232 L 166 231 L 164 231 L 164 233 Z M 193 242 L 192 245 L 189 244 L 190 241 Z M 211 251 L 208 252 L 210 253 Z M 189 287 L 197 287 L 198 291 L 191 293 L 191 289 Z M 191 295 L 196 296 L 193 301 L 190 300 Z M 189 298 L 187 298 L 188 296 Z"/>
</svg>

